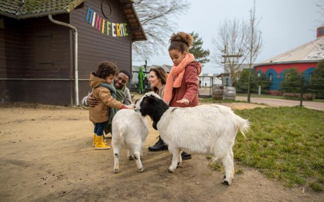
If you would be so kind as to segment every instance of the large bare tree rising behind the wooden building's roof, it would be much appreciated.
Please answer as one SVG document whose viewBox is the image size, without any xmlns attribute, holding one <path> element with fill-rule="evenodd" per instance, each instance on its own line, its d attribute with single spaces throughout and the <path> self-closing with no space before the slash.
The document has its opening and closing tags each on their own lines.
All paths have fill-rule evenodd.
<svg viewBox="0 0 324 202">
<path fill-rule="evenodd" d="M 132 48 L 137 56 L 146 58 L 165 48 L 177 16 L 187 12 L 189 4 L 184 0 L 135 0 L 134 7 L 148 40 L 135 41 Z"/>
</svg>

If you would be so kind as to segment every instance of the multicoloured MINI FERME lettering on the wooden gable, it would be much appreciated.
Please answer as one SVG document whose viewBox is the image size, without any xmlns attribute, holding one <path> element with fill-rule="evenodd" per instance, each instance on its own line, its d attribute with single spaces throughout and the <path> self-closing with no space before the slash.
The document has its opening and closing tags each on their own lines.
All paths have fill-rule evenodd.
<svg viewBox="0 0 324 202">
<path fill-rule="evenodd" d="M 103 19 L 94 10 L 88 7 L 86 21 L 92 25 L 95 29 L 103 34 L 109 35 L 109 33 L 116 36 L 128 36 L 127 23 L 113 23 Z M 110 31 L 111 30 L 111 31 Z"/>
</svg>

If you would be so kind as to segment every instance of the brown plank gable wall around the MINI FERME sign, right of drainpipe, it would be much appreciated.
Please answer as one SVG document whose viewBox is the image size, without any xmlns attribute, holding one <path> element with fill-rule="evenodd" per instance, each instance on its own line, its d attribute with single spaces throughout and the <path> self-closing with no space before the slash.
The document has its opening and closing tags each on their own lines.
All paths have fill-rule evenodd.
<svg viewBox="0 0 324 202">
<path fill-rule="evenodd" d="M 128 29 L 128 36 L 113 37 L 111 34 L 101 33 L 86 21 L 87 9 L 90 7 L 97 14 L 107 20 L 101 11 L 99 0 L 85 2 L 82 9 L 76 9 L 70 14 L 70 23 L 78 30 L 78 75 L 79 96 L 83 98 L 91 91 L 89 86 L 90 73 L 95 71 L 101 61 L 116 63 L 119 70 L 132 72 L 132 35 Z M 112 15 L 108 21 L 129 24 L 126 14 L 121 10 L 119 1 L 109 1 Z"/>
</svg>

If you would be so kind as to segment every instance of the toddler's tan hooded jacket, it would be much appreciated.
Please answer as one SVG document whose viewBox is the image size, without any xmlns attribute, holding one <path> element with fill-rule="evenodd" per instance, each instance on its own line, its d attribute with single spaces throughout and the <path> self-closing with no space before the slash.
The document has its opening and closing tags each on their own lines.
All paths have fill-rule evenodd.
<svg viewBox="0 0 324 202">
<path fill-rule="evenodd" d="M 114 99 L 110 90 L 105 87 L 97 87 L 102 83 L 106 83 L 105 79 L 96 77 L 94 72 L 90 74 L 89 84 L 92 87 L 92 96 L 99 100 L 99 104 L 95 107 L 89 107 L 89 118 L 92 123 L 102 123 L 108 121 L 108 107 L 121 109 L 123 104 Z"/>
</svg>

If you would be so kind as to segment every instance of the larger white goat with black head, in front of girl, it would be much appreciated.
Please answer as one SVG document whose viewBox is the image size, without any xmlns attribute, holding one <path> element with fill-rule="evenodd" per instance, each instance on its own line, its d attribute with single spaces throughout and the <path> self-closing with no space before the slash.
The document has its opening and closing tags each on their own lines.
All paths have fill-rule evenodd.
<svg viewBox="0 0 324 202">
<path fill-rule="evenodd" d="M 157 94 L 146 93 L 134 110 L 149 115 L 157 126 L 161 138 L 173 155 L 169 172 L 181 164 L 181 152 L 212 154 L 225 167 L 223 184 L 230 185 L 234 178 L 232 147 L 239 129 L 249 129 L 248 120 L 235 115 L 221 105 L 202 105 L 193 108 L 169 107 Z"/>
</svg>

